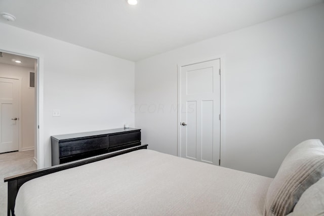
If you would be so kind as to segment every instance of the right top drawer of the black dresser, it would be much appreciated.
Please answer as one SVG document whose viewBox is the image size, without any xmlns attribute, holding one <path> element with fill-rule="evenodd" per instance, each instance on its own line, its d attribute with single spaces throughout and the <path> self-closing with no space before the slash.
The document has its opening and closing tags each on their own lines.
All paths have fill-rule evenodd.
<svg viewBox="0 0 324 216">
<path fill-rule="evenodd" d="M 129 143 L 135 143 L 141 141 L 141 132 L 132 132 L 127 134 L 116 134 L 108 136 L 109 148 L 119 145 L 125 145 Z"/>
</svg>

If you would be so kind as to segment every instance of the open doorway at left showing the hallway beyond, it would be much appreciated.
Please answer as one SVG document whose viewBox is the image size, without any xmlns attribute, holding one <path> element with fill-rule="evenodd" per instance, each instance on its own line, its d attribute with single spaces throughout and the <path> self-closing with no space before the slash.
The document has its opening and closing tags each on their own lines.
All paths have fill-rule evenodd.
<svg viewBox="0 0 324 216">
<path fill-rule="evenodd" d="M 37 65 L 37 58 L 0 50 L 0 153 L 29 151 L 36 164 Z"/>
</svg>

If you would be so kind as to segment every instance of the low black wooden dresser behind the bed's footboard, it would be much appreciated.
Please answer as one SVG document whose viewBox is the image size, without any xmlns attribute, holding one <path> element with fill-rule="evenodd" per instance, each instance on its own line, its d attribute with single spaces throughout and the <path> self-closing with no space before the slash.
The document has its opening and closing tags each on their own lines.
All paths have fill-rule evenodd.
<svg viewBox="0 0 324 216">
<path fill-rule="evenodd" d="M 51 137 L 52 166 L 107 152 L 141 145 L 141 129 L 117 128 L 105 131 Z"/>
</svg>

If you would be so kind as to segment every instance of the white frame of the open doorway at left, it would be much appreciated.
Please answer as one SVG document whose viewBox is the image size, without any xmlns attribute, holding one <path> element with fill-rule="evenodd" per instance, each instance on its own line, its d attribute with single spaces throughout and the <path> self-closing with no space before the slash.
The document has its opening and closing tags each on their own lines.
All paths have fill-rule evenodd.
<svg viewBox="0 0 324 216">
<path fill-rule="evenodd" d="M 37 147 L 37 158 L 34 157 L 34 161 L 37 164 L 37 169 L 45 167 L 44 157 L 44 56 L 41 54 L 25 54 L 25 50 L 4 50 L 0 49 L 0 52 L 10 53 L 14 55 L 25 56 L 37 60 L 37 79 L 36 79 L 36 147 Z M 28 52 L 29 53 L 29 52 Z M 41 145 L 41 143 L 43 145 Z"/>
</svg>

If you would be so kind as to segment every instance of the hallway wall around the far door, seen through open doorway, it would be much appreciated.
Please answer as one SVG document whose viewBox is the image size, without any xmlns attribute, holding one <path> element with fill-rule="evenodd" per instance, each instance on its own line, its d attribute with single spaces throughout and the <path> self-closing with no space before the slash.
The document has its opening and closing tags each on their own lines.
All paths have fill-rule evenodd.
<svg viewBox="0 0 324 216">
<path fill-rule="evenodd" d="M 22 79 L 21 85 L 21 146 L 19 150 L 34 149 L 34 121 L 35 121 L 35 89 L 29 88 L 29 72 L 34 68 L 20 67 L 0 63 L 0 76 L 18 77 Z"/>
</svg>

